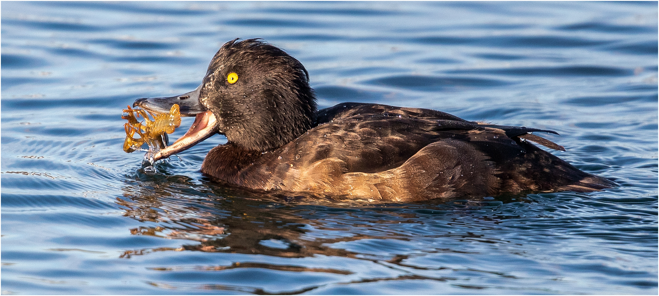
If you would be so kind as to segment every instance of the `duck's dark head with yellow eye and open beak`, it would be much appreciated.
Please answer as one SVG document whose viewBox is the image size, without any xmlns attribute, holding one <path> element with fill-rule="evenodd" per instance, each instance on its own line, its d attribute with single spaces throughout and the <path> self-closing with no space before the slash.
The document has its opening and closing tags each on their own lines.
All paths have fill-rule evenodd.
<svg viewBox="0 0 659 296">
<path fill-rule="evenodd" d="M 260 39 L 237 39 L 215 53 L 206 77 L 194 91 L 133 103 L 133 107 L 160 113 L 179 104 L 181 116 L 196 117 L 185 136 L 156 153 L 155 160 L 214 134 L 223 134 L 249 151 L 269 151 L 312 127 L 316 97 L 302 63 Z"/>
</svg>

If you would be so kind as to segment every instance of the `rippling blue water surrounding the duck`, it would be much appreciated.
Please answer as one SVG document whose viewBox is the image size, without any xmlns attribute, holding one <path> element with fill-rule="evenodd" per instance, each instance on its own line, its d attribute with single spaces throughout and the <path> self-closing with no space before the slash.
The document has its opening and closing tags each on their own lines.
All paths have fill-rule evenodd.
<svg viewBox="0 0 659 296">
<path fill-rule="evenodd" d="M 593 193 L 334 205 L 161 164 L 121 109 L 262 37 L 320 107 L 558 131 Z M 657 3 L 2 3 L 3 294 L 656 294 Z M 192 118 L 171 139 L 185 133 Z"/>
</svg>

